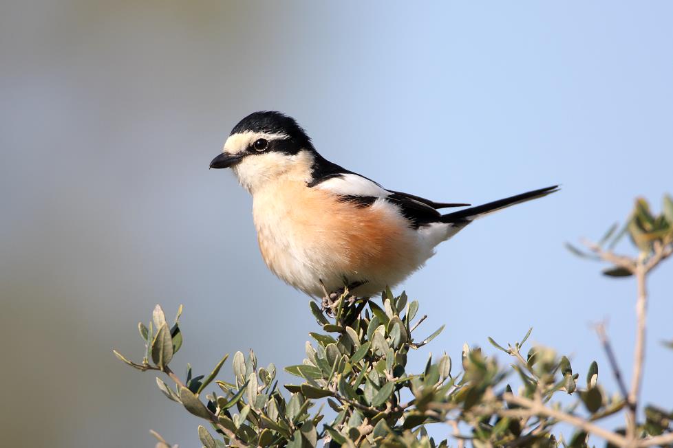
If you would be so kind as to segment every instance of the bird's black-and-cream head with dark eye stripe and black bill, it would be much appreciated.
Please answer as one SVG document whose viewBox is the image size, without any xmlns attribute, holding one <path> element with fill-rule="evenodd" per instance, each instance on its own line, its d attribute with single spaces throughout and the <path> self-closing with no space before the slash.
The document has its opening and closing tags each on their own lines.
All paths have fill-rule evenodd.
<svg viewBox="0 0 673 448">
<path fill-rule="evenodd" d="M 232 168 L 250 192 L 279 179 L 310 178 L 314 148 L 297 122 L 280 112 L 251 113 L 231 130 L 211 168 Z"/>
</svg>

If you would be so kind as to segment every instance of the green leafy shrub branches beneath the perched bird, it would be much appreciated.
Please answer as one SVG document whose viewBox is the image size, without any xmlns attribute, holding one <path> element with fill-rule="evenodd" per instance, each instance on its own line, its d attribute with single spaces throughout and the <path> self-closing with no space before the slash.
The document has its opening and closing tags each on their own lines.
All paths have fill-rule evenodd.
<svg viewBox="0 0 673 448">
<path fill-rule="evenodd" d="M 656 217 L 639 199 L 621 233 L 630 234 L 641 254 L 631 259 L 603 249 L 610 238 L 621 237 L 613 236 L 615 226 L 599 245 L 588 245 L 593 252 L 588 256 L 607 261 L 618 257 L 615 267 L 644 279 L 649 269 L 673 250 L 672 224 L 670 198 L 663 214 Z M 650 268 L 645 269 L 647 266 Z M 673 443 L 671 410 L 648 406 L 644 419 L 637 421 L 637 388 L 635 397 L 624 385 L 621 393 L 610 394 L 599 381 L 596 361 L 577 369 L 568 357 L 551 348 L 528 348 L 532 328 L 520 341 L 506 346 L 488 338 L 506 354 L 509 364 L 487 356 L 480 348 L 464 346 L 458 368 L 444 354 L 428 357 L 423 371 L 409 372 L 409 351 L 423 348 L 443 328 L 417 337 L 425 320 L 425 316 L 418 317 L 418 308 L 418 302 L 409 300 L 404 292 L 394 296 L 389 290 L 380 299 L 363 300 L 345 289 L 327 309 L 310 302 L 321 331 L 310 333 L 313 340 L 306 343 L 302 363 L 285 368 L 297 381 L 283 388 L 276 380 L 273 363 L 258 366 L 252 350 L 247 356 L 235 353 L 229 381 L 217 379 L 228 355 L 207 375 L 194 374 L 187 364 L 184 381 L 180 379 L 170 366 L 182 346 L 182 308 L 173 324 L 167 322 L 160 306 L 147 326 L 138 324 L 145 342 L 140 363 L 116 351 L 115 355 L 138 370 L 157 370 L 169 376 L 175 386 L 157 378 L 158 388 L 205 421 L 198 427 L 198 436 L 207 448 L 299 448 L 321 443 L 330 447 L 434 448 L 448 447 L 449 443 L 463 447 L 466 442 L 478 448 L 585 447 L 590 434 L 603 438 L 608 446 Z M 602 340 L 609 357 L 609 341 Z M 638 362 L 639 358 L 635 359 Z M 610 367 L 619 372 L 615 364 Z M 639 379 L 641 370 L 634 372 Z M 516 392 L 511 383 L 519 384 Z M 325 404 L 336 414 L 330 421 L 324 421 Z M 596 424 L 619 412 L 626 412 L 626 428 L 611 432 Z M 559 434 L 560 422 L 573 427 L 573 434 Z M 445 425 L 446 437 L 431 438 L 428 425 Z M 157 447 L 170 447 L 153 434 L 159 440 Z"/>
</svg>

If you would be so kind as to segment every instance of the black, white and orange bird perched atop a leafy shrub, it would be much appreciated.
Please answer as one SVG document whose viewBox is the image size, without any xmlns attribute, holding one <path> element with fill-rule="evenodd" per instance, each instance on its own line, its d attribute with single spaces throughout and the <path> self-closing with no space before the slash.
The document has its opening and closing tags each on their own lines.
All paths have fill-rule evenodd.
<svg viewBox="0 0 673 448">
<path fill-rule="evenodd" d="M 540 188 L 476 207 L 388 190 L 325 159 L 292 117 L 244 117 L 210 168 L 231 168 L 253 197 L 257 242 L 268 268 L 312 298 L 360 298 L 403 282 L 435 247 L 487 214 L 545 197 Z M 445 208 L 462 210 L 442 214 Z"/>
</svg>

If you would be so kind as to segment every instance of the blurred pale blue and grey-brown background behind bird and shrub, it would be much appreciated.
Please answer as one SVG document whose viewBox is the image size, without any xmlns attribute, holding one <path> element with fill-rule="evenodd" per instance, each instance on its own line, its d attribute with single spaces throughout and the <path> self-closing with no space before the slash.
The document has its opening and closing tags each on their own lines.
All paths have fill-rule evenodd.
<svg viewBox="0 0 673 448">
<path fill-rule="evenodd" d="M 308 298 L 267 271 L 251 200 L 208 170 L 277 109 L 388 188 L 480 203 L 562 183 L 444 243 L 398 287 L 430 350 L 532 340 L 593 357 L 608 319 L 630 376 L 633 280 L 563 247 L 672 192 L 673 3 L 4 2 L 0 14 L 0 425 L 5 446 L 199 446 L 156 389 L 136 322 L 184 304 L 173 364 L 299 363 Z M 645 401 L 671 406 L 673 265 L 650 282 Z M 502 355 L 502 354 L 501 354 Z M 414 358 L 416 368 L 427 352 Z M 231 378 L 231 362 L 223 369 Z M 288 376 L 281 375 L 287 382 Z"/>
</svg>

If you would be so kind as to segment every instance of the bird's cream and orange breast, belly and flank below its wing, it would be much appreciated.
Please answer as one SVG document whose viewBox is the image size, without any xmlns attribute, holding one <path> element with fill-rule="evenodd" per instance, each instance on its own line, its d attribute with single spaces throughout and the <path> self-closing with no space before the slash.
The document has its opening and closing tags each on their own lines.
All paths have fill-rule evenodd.
<svg viewBox="0 0 673 448">
<path fill-rule="evenodd" d="M 408 227 L 395 205 L 380 199 L 358 208 L 306 183 L 278 183 L 253 194 L 257 240 L 266 265 L 281 280 L 312 295 L 344 282 L 353 292 L 380 293 L 402 282 L 449 237 L 449 225 Z"/>
</svg>

